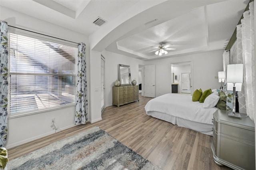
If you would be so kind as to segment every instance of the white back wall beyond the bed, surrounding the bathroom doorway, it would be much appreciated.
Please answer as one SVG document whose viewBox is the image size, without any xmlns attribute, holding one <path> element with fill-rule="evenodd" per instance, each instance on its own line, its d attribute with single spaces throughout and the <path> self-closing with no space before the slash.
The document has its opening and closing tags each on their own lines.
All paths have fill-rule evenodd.
<svg viewBox="0 0 256 170">
<path fill-rule="evenodd" d="M 210 51 L 166 59 L 158 59 L 146 61 L 145 65 L 156 66 L 156 97 L 170 93 L 171 89 L 171 70 L 170 63 L 178 63 L 192 61 L 193 65 L 193 89 L 216 89 L 220 83 L 215 76 L 218 76 L 218 71 L 222 71 L 222 54 L 224 50 Z M 191 92 L 193 93 L 193 92 Z"/>
</svg>

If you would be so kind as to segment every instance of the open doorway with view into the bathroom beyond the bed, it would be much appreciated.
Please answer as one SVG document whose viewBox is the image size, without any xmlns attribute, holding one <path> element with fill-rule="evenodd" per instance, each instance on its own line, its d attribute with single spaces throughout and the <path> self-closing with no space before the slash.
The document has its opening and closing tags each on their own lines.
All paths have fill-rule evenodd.
<svg viewBox="0 0 256 170">
<path fill-rule="evenodd" d="M 180 94 L 191 94 L 191 91 L 193 91 L 192 61 L 170 63 L 170 67 L 171 85 L 177 85 Z M 170 93 L 172 93 L 172 88 L 170 87 L 170 89 Z"/>
</svg>

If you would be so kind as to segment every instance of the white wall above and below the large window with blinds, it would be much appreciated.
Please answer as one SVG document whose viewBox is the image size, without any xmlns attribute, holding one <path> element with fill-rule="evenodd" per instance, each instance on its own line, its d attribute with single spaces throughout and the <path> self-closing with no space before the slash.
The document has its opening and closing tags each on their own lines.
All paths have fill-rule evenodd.
<svg viewBox="0 0 256 170">
<path fill-rule="evenodd" d="M 2 6 L 0 20 L 8 22 L 8 25 L 10 26 L 24 28 L 26 30 L 46 34 L 72 42 L 84 42 L 86 45 L 88 45 L 88 37 L 82 34 L 67 28 L 62 28 L 57 25 L 50 24 L 43 20 L 38 20 L 31 16 L 27 16 Z M 86 48 L 86 54 L 89 54 L 88 47 Z M 86 58 L 86 61 L 86 63 L 89 63 L 89 57 Z M 56 126 L 58 128 L 57 131 L 70 128 L 74 126 L 74 114 L 75 107 L 72 106 L 24 117 L 9 117 L 6 148 L 12 148 L 14 146 L 24 144 L 26 142 L 54 133 L 55 130 L 50 127 L 51 118 L 53 117 L 55 118 Z"/>
</svg>

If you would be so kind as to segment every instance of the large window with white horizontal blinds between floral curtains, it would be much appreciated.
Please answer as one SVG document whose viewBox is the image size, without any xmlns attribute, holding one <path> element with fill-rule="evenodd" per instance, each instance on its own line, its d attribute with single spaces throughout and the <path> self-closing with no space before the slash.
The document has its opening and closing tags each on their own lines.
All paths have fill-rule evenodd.
<svg viewBox="0 0 256 170">
<path fill-rule="evenodd" d="M 9 36 L 10 113 L 75 103 L 77 47 Z"/>
</svg>

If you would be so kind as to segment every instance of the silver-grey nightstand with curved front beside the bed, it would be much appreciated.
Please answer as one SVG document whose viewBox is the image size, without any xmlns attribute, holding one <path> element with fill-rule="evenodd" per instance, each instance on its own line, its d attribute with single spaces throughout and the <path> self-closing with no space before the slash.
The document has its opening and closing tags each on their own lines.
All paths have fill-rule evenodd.
<svg viewBox="0 0 256 170">
<path fill-rule="evenodd" d="M 242 120 L 228 117 L 228 111 L 220 109 L 213 114 L 212 122 L 214 162 L 235 170 L 255 170 L 254 122 L 249 117 Z"/>
</svg>

